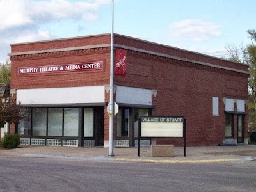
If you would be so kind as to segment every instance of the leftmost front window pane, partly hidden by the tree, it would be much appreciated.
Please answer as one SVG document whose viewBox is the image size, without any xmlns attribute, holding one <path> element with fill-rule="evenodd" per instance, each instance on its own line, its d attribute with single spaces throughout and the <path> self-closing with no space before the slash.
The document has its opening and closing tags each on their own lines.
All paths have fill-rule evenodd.
<svg viewBox="0 0 256 192">
<path fill-rule="evenodd" d="M 20 135 L 30 135 L 31 134 L 31 109 L 24 109 L 24 115 L 26 118 L 20 120 L 18 124 L 18 133 Z"/>
</svg>

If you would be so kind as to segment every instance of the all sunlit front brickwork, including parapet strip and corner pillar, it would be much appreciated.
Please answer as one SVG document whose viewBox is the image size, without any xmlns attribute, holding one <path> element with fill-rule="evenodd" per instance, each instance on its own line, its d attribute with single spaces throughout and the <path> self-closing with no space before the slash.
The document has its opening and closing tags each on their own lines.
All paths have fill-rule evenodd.
<svg viewBox="0 0 256 192">
<path fill-rule="evenodd" d="M 109 44 L 109 36 L 97 38 L 92 36 L 88 40 L 73 38 L 70 40 L 54 40 L 51 42 L 35 42 L 29 44 L 12 45 L 12 52 L 38 51 L 44 49 L 57 49 L 65 47 L 81 47 L 95 44 Z M 12 89 L 24 88 L 56 88 L 73 86 L 97 86 L 109 84 L 110 75 L 110 47 L 83 49 L 78 51 L 61 51 L 44 54 L 28 54 L 24 56 L 11 56 L 12 60 Z M 72 63 L 86 63 L 104 61 L 102 71 L 59 72 L 44 74 L 17 74 L 19 67 L 39 67 L 47 65 L 61 65 Z M 109 102 L 109 94 L 106 93 L 105 102 Z M 11 129 L 10 129 L 11 131 Z M 13 126 L 12 131 L 15 131 Z M 109 138 L 109 116 L 104 115 L 104 140 Z"/>
</svg>

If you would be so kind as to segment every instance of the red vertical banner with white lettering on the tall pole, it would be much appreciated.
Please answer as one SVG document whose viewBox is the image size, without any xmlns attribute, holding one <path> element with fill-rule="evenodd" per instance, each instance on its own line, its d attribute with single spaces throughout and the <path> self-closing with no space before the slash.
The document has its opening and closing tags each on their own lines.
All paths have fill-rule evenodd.
<svg viewBox="0 0 256 192">
<path fill-rule="evenodd" d="M 124 49 L 116 50 L 116 62 L 115 62 L 115 76 L 126 76 L 126 54 Z"/>
</svg>

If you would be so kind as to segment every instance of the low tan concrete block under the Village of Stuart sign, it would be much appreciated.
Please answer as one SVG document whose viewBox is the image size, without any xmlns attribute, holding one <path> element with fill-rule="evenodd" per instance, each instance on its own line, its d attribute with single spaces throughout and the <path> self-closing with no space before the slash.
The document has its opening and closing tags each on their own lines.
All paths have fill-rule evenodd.
<svg viewBox="0 0 256 192">
<path fill-rule="evenodd" d="M 173 157 L 174 145 L 151 145 L 151 157 Z"/>
</svg>

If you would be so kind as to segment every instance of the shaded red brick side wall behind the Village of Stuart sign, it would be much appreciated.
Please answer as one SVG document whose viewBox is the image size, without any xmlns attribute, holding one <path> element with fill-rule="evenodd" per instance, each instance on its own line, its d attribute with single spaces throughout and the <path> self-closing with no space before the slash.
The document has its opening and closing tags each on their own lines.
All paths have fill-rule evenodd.
<svg viewBox="0 0 256 192">
<path fill-rule="evenodd" d="M 157 89 L 157 96 L 153 99 L 156 109 L 152 115 L 185 116 L 187 145 L 222 143 L 225 139 L 223 98 L 248 99 L 247 82 L 247 74 L 141 56 L 131 51 L 127 54 L 127 76 L 115 77 L 115 84 Z M 220 116 L 212 115 L 212 97 L 219 97 Z M 157 143 L 183 145 L 184 140 L 157 139 Z"/>
</svg>

